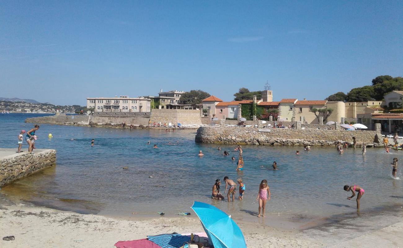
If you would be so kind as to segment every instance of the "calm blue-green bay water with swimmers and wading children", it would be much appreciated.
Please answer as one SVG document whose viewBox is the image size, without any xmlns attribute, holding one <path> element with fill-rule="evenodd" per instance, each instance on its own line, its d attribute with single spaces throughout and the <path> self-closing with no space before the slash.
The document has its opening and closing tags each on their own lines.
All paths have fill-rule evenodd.
<svg viewBox="0 0 403 248">
<path fill-rule="evenodd" d="M 0 115 L 0 147 L 17 148 L 19 130 L 33 126 L 24 123 L 31 116 Z M 306 222 L 354 213 L 356 202 L 347 200 L 351 194 L 343 191 L 345 184 L 365 189 L 361 213 L 403 205 L 403 180 L 391 177 L 390 165 L 393 157 L 403 161 L 403 152 L 386 154 L 383 149 L 368 148 L 362 156 L 361 149 L 348 148 L 339 155 L 336 148 L 313 147 L 295 155 L 301 147 L 243 146 L 245 170 L 238 173 L 236 162 L 231 161 L 231 156 L 238 155 L 235 146 L 197 144 L 196 130 L 40 126 L 36 146 L 56 149 L 57 166 L 0 190 L 10 198 L 80 213 L 127 216 L 133 212 L 189 212 L 193 200 L 198 200 L 215 204 L 236 218 L 249 219 L 257 211 L 258 185 L 267 179 L 272 199 L 266 211 L 273 218 Z M 54 138 L 48 139 L 48 133 Z M 148 140 L 159 148 L 147 145 Z M 176 141 L 179 145 L 167 144 Z M 27 150 L 26 144 L 23 150 Z M 204 157 L 197 157 L 199 150 Z M 223 156 L 224 150 L 230 156 Z M 274 160 L 278 171 L 272 170 Z M 398 175 L 402 177 L 400 163 Z M 246 192 L 242 202 L 210 199 L 215 179 L 224 176 L 234 181 L 243 178 Z M 222 192 L 224 188 L 225 184 Z"/>
</svg>

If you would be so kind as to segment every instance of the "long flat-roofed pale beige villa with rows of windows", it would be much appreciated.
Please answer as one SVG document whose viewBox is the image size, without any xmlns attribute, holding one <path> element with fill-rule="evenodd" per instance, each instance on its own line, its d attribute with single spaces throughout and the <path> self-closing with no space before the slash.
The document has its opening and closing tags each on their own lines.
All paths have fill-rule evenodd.
<svg viewBox="0 0 403 248">
<path fill-rule="evenodd" d="M 94 112 L 150 112 L 151 99 L 128 96 L 89 97 L 87 108 L 92 108 Z"/>
</svg>

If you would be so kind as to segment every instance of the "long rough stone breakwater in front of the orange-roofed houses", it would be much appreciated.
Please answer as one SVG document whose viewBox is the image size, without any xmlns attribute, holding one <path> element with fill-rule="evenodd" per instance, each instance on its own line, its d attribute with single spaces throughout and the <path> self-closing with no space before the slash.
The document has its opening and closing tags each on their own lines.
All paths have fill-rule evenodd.
<svg viewBox="0 0 403 248">
<path fill-rule="evenodd" d="M 254 144 L 254 145 L 285 145 L 285 146 L 334 146 L 337 142 L 357 146 L 363 142 L 367 146 L 380 147 L 377 131 L 345 131 L 326 129 L 260 129 L 253 127 L 199 127 L 195 141 L 220 144 Z"/>
</svg>

